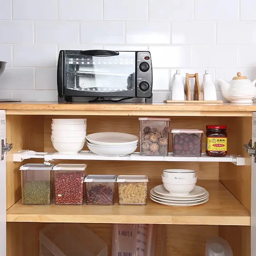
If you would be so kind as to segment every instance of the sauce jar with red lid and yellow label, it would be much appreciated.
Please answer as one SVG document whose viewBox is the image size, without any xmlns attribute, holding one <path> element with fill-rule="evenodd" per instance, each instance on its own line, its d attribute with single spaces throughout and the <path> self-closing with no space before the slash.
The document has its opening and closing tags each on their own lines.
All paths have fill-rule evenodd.
<svg viewBox="0 0 256 256">
<path fill-rule="evenodd" d="M 228 135 L 225 125 L 206 125 L 207 156 L 226 156 L 228 153 Z"/>
</svg>

